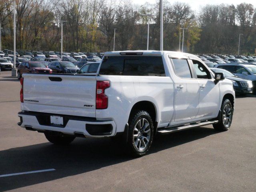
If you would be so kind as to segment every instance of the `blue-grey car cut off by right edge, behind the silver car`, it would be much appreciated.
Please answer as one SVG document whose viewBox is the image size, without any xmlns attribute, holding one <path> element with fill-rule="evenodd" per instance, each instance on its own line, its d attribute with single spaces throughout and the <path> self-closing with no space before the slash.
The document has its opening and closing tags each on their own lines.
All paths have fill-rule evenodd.
<svg viewBox="0 0 256 192">
<path fill-rule="evenodd" d="M 253 92 L 256 93 L 256 66 L 253 64 L 220 64 L 214 68 L 225 69 L 239 78 L 251 80 Z"/>
</svg>

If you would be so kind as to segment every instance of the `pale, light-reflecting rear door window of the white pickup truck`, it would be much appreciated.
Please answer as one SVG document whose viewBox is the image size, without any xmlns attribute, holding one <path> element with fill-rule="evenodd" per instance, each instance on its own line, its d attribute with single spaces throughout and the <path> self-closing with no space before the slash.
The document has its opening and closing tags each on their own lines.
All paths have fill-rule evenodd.
<svg viewBox="0 0 256 192">
<path fill-rule="evenodd" d="M 188 60 L 186 59 L 174 59 L 172 58 L 174 72 L 181 78 L 192 78 Z"/>
</svg>

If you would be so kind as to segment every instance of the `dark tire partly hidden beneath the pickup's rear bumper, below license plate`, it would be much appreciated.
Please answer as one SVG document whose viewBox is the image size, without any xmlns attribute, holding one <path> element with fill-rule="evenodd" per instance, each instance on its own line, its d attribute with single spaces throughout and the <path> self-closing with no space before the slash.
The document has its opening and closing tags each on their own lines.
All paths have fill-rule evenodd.
<svg viewBox="0 0 256 192">
<path fill-rule="evenodd" d="M 46 132 L 44 135 L 49 142 L 56 145 L 68 145 L 76 138 L 75 136 L 66 136 L 58 132 Z"/>
</svg>

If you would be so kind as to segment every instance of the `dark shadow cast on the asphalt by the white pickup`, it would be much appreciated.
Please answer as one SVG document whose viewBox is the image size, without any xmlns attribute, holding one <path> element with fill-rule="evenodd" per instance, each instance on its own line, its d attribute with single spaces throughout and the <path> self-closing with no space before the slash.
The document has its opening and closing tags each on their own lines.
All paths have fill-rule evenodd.
<svg viewBox="0 0 256 192">
<path fill-rule="evenodd" d="M 154 138 L 150 153 L 216 134 L 213 128 L 195 128 Z M 143 158 L 143 157 L 142 157 Z M 54 168 L 56 171 L 0 178 L 0 192 L 73 176 L 132 160 L 125 148 L 110 138 L 76 138 L 68 146 L 49 142 L 0 151 L 0 175 Z"/>
</svg>

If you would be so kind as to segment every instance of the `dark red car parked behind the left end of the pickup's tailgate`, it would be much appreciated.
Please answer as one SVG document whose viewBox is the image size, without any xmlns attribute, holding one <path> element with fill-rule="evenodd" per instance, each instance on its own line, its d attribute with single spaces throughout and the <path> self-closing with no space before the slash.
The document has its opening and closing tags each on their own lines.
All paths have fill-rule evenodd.
<svg viewBox="0 0 256 192">
<path fill-rule="evenodd" d="M 18 66 L 17 78 L 20 79 L 24 73 L 52 73 L 52 70 L 40 62 L 22 62 Z"/>
</svg>

